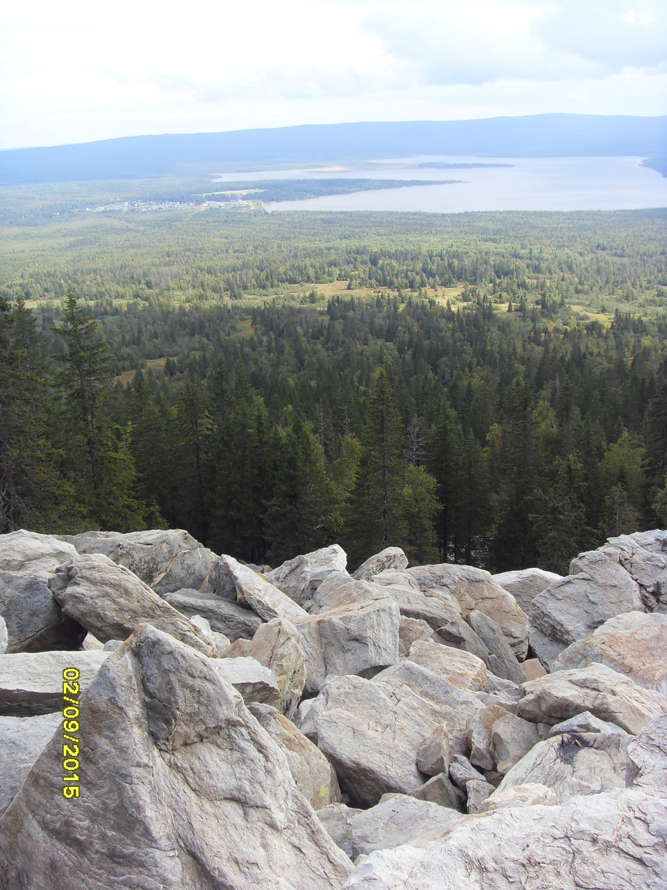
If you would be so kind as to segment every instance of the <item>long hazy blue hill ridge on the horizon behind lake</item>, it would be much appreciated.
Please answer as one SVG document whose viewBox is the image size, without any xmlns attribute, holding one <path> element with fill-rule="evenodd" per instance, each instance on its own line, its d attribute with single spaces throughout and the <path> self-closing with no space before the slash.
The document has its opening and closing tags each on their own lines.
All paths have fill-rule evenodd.
<svg viewBox="0 0 667 890">
<path fill-rule="evenodd" d="M 52 148 L 0 151 L 0 185 L 135 179 L 397 158 L 416 154 L 479 158 L 659 157 L 667 117 L 534 115 L 481 120 L 286 126 L 129 136 Z"/>
</svg>

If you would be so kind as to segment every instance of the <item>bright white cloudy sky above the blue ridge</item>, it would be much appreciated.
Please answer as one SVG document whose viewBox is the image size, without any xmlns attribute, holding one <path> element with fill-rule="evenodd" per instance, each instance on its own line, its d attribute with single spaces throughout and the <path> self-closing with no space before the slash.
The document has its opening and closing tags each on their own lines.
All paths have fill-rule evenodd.
<svg viewBox="0 0 667 890">
<path fill-rule="evenodd" d="M 667 114 L 667 0 L 23 0 L 0 149 L 546 112 Z"/>
</svg>

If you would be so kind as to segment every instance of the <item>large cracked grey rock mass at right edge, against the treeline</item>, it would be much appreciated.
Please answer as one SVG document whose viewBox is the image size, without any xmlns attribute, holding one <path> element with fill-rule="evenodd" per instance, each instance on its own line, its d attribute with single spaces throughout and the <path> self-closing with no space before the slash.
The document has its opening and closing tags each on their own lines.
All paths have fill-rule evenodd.
<svg viewBox="0 0 667 890">
<path fill-rule="evenodd" d="M 663 531 L 609 538 L 579 554 L 567 578 L 534 597 L 530 644 L 545 667 L 607 619 L 658 608 L 667 591 L 666 539 Z"/>
</svg>

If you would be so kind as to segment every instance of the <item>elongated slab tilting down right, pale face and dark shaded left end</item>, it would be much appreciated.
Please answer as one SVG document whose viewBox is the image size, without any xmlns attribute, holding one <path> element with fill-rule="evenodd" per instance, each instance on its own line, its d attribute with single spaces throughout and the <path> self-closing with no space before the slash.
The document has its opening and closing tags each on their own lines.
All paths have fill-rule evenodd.
<svg viewBox="0 0 667 890">
<path fill-rule="evenodd" d="M 210 582 L 214 594 L 229 601 L 237 600 L 264 621 L 274 618 L 298 621 L 308 615 L 305 609 L 301 609 L 282 590 L 278 590 L 262 575 L 241 565 L 232 556 L 218 557 L 213 563 Z"/>
</svg>

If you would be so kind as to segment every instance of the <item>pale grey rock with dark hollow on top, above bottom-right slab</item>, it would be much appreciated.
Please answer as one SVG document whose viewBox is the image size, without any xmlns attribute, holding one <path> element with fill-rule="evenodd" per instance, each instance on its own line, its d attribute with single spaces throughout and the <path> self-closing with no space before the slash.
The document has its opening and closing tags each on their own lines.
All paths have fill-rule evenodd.
<svg viewBox="0 0 667 890">
<path fill-rule="evenodd" d="M 526 782 L 546 785 L 559 804 L 582 794 L 625 787 L 625 757 L 631 737 L 599 732 L 559 735 L 538 742 L 512 766 L 498 791 Z"/>
</svg>

